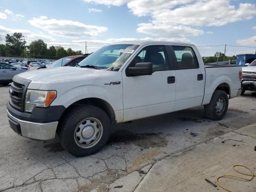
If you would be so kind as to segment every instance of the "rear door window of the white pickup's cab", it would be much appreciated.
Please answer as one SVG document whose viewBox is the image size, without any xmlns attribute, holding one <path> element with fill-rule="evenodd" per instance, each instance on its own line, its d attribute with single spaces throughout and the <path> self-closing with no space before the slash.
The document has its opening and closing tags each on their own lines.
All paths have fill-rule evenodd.
<svg viewBox="0 0 256 192">
<path fill-rule="evenodd" d="M 172 46 L 178 69 L 199 68 L 194 50 L 189 46 Z"/>
</svg>

